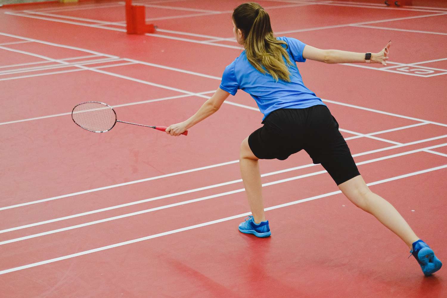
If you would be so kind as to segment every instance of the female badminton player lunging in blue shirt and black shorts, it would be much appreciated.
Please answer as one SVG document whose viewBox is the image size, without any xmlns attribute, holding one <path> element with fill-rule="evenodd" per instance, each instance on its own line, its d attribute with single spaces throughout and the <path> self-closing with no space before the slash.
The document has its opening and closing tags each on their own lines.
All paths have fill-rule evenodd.
<svg viewBox="0 0 447 298">
<path fill-rule="evenodd" d="M 320 50 L 295 38 L 275 38 L 268 13 L 257 3 L 240 4 L 232 14 L 233 33 L 245 50 L 223 71 L 219 89 L 188 120 L 173 124 L 166 133 L 178 136 L 215 113 L 238 89 L 249 93 L 264 114 L 263 126 L 240 145 L 240 172 L 252 216 L 239 231 L 270 236 L 264 213 L 258 159 L 284 160 L 304 149 L 314 164 L 321 164 L 345 196 L 372 214 L 411 249 L 425 275 L 442 263 L 433 250 L 409 227 L 401 214 L 371 192 L 358 172 L 350 150 L 329 109 L 306 88 L 295 62 L 311 59 L 324 63 L 382 63 L 386 65 L 391 42 L 378 53 Z"/>
</svg>

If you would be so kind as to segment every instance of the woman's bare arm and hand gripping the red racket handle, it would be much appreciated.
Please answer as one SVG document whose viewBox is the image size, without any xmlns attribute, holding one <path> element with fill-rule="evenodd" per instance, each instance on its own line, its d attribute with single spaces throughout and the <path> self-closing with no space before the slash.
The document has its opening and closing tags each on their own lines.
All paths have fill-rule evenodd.
<svg viewBox="0 0 447 298">
<path fill-rule="evenodd" d="M 166 133 L 173 136 L 179 136 L 185 130 L 217 112 L 223 104 L 223 101 L 227 99 L 228 95 L 230 95 L 230 93 L 218 88 L 214 95 L 205 101 L 193 116 L 186 121 L 169 126 L 166 128 Z"/>
</svg>

